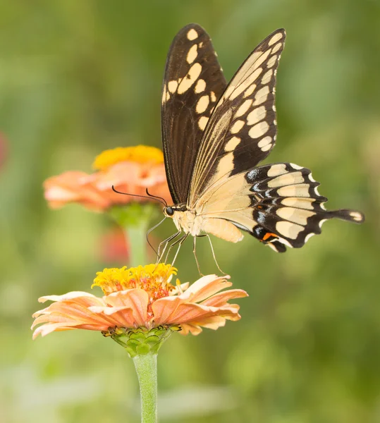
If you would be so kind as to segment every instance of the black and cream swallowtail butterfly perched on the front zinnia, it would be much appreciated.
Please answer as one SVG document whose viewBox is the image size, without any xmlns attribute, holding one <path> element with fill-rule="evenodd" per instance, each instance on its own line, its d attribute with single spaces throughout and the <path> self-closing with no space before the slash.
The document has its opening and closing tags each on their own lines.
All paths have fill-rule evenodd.
<svg viewBox="0 0 380 423">
<path fill-rule="evenodd" d="M 183 236 L 237 243 L 250 233 L 276 252 L 302 247 L 328 219 L 362 223 L 349 209 L 327 211 L 309 169 L 257 166 L 276 142 L 276 72 L 286 32 L 271 33 L 226 83 L 207 32 L 183 27 L 168 52 L 161 130 L 173 205 L 164 214 Z M 178 241 L 177 241 L 178 243 Z"/>
</svg>

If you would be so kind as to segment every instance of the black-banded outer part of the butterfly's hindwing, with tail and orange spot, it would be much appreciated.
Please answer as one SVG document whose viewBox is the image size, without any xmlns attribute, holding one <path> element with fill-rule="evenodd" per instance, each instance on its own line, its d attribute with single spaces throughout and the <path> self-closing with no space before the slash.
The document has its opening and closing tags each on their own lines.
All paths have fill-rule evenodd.
<svg viewBox="0 0 380 423">
<path fill-rule="evenodd" d="M 362 223 L 360 212 L 348 209 L 328 211 L 326 197 L 319 195 L 319 183 L 307 168 L 277 163 L 259 166 L 245 173 L 252 192 L 252 219 L 249 231 L 255 238 L 284 252 L 302 247 L 312 235 L 321 233 L 328 219 L 338 218 Z"/>
</svg>

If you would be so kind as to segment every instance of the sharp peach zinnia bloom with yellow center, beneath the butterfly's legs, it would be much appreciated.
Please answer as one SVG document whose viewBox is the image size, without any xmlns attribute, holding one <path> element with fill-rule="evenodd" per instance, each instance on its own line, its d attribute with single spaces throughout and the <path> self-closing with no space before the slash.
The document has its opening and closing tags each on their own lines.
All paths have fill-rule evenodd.
<svg viewBox="0 0 380 423">
<path fill-rule="evenodd" d="M 174 329 L 197 335 L 202 327 L 218 329 L 226 320 L 239 320 L 239 306 L 228 300 L 246 297 L 244 290 L 219 292 L 232 285 L 229 276 L 203 276 L 189 286 L 170 283 L 176 269 L 171 264 L 149 264 L 97 272 L 93 286 L 104 296 L 85 292 L 48 295 L 39 302 L 53 301 L 33 317 L 33 338 L 53 331 L 87 329 L 113 338 L 128 331 Z"/>
</svg>

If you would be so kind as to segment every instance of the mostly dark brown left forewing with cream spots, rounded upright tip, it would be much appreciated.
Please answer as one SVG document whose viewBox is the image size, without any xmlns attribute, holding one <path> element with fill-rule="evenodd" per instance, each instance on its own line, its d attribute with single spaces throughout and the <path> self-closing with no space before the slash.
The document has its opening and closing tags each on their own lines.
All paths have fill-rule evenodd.
<svg viewBox="0 0 380 423">
<path fill-rule="evenodd" d="M 185 26 L 168 52 L 162 90 L 166 175 L 175 204 L 186 203 L 204 128 L 225 88 L 209 35 L 200 25 Z"/>
</svg>

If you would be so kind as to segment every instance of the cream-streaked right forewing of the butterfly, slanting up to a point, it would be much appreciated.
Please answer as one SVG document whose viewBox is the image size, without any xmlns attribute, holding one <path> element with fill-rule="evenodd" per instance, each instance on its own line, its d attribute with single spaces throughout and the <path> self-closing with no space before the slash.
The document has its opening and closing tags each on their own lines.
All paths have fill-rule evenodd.
<svg viewBox="0 0 380 423">
<path fill-rule="evenodd" d="M 276 30 L 240 66 L 216 104 L 192 173 L 188 207 L 214 183 L 262 161 L 276 141 L 275 85 L 285 30 Z"/>
</svg>

